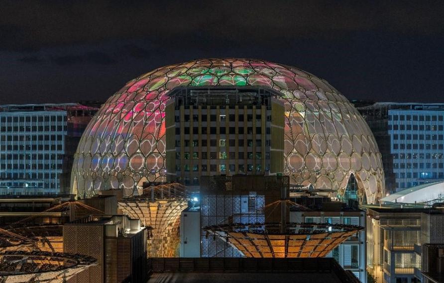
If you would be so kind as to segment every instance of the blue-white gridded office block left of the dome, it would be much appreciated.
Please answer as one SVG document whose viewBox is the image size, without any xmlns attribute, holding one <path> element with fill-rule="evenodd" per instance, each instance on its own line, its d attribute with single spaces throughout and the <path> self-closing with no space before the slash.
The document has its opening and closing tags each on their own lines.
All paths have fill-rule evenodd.
<svg viewBox="0 0 444 283">
<path fill-rule="evenodd" d="M 1 105 L 0 194 L 58 194 L 64 159 L 72 162 L 77 147 L 65 142 L 80 137 L 96 111 L 80 104 Z"/>
</svg>

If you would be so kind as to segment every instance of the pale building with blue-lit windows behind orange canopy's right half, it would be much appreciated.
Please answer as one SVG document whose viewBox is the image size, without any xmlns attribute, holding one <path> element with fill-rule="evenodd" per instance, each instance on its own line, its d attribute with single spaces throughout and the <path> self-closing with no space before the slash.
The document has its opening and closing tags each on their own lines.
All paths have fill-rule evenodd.
<svg viewBox="0 0 444 283">
<path fill-rule="evenodd" d="M 290 222 L 294 223 L 329 223 L 365 227 L 365 211 L 358 208 L 355 200 L 332 201 L 325 197 L 296 197 L 300 207 L 290 209 Z M 365 230 L 347 238 L 335 247 L 327 257 L 333 257 L 343 269 L 353 273 L 362 283 L 367 282 Z"/>
</svg>

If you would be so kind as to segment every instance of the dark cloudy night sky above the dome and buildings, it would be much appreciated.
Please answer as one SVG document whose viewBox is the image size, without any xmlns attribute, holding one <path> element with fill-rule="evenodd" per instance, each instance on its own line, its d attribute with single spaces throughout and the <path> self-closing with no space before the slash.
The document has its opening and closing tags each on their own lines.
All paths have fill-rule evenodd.
<svg viewBox="0 0 444 283">
<path fill-rule="evenodd" d="M 444 102 L 444 1 L 1 0 L 0 104 L 105 101 L 154 68 L 259 58 L 348 99 Z"/>
</svg>

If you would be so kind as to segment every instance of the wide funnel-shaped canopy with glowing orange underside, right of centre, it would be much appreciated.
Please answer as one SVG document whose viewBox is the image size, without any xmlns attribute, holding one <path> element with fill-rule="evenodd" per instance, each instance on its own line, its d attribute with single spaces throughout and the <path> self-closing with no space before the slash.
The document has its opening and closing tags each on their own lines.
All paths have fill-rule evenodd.
<svg viewBox="0 0 444 283">
<path fill-rule="evenodd" d="M 229 224 L 207 226 L 207 237 L 219 237 L 248 258 L 318 258 L 327 256 L 363 227 L 329 223 Z M 283 233 L 282 233 L 283 232 Z"/>
</svg>

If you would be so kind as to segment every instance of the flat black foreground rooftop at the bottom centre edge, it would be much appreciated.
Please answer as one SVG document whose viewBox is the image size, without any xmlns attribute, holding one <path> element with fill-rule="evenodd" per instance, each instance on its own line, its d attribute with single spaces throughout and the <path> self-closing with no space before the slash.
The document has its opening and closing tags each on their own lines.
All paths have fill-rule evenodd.
<svg viewBox="0 0 444 283">
<path fill-rule="evenodd" d="M 155 258 L 148 283 L 359 283 L 333 258 Z"/>
</svg>

